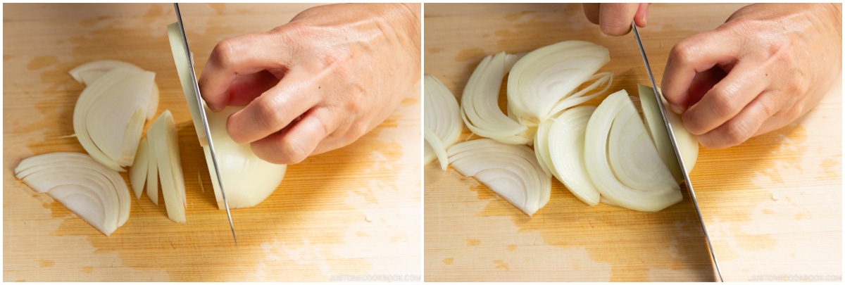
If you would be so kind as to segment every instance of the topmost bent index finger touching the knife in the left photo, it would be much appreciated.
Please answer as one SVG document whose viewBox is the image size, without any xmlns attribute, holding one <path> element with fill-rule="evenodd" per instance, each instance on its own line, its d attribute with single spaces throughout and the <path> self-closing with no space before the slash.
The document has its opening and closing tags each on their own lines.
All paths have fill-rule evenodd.
<svg viewBox="0 0 845 285">
<path fill-rule="evenodd" d="M 199 93 L 211 110 L 222 110 L 229 104 L 229 86 L 238 75 L 258 73 L 265 69 L 287 67 L 290 58 L 283 45 L 270 33 L 240 35 L 221 41 L 211 51 L 199 76 Z"/>
</svg>

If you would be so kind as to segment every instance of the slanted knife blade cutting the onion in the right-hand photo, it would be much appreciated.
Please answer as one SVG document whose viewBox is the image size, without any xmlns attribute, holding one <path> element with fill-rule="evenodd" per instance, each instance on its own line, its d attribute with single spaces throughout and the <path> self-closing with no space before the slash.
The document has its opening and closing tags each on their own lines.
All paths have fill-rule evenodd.
<svg viewBox="0 0 845 285">
<path fill-rule="evenodd" d="M 648 79 L 651 80 L 651 88 L 654 89 L 654 94 L 657 97 L 657 106 L 660 109 L 660 115 L 663 117 L 663 123 L 666 125 L 666 130 L 668 131 L 669 140 L 672 141 L 672 149 L 675 152 L 675 158 L 678 159 L 678 164 L 680 165 L 681 173 L 684 174 L 684 181 L 686 182 L 687 190 L 690 191 L 690 198 L 692 199 L 692 204 L 695 206 L 695 213 L 698 214 L 698 221 L 701 223 L 701 231 L 704 232 L 704 239 L 707 241 L 707 250 L 710 250 L 710 256 L 713 258 L 713 265 L 716 266 L 716 273 L 719 277 L 719 281 L 724 281 L 722 279 L 722 271 L 719 270 L 719 262 L 716 259 L 716 252 L 713 251 L 713 245 L 710 242 L 710 236 L 707 234 L 707 228 L 704 225 L 704 218 L 701 217 L 701 209 L 698 207 L 698 201 L 695 199 L 695 191 L 692 188 L 692 182 L 690 181 L 690 175 L 684 170 L 686 167 L 684 166 L 684 159 L 681 158 L 681 153 L 678 149 L 678 143 L 675 142 L 675 134 L 672 131 L 672 125 L 669 124 L 669 120 L 666 116 L 666 107 L 663 106 L 660 102 L 662 102 L 662 95 L 660 94 L 660 90 L 657 89 L 657 83 L 654 82 L 654 74 L 651 73 L 651 65 L 648 64 L 648 57 L 646 57 L 646 50 L 642 47 L 642 40 L 640 39 L 640 33 L 636 30 L 636 24 L 631 23 L 631 28 L 634 30 L 634 38 L 636 39 L 636 44 L 640 47 L 640 55 L 642 56 L 642 61 L 646 64 L 646 72 L 648 73 Z"/>
</svg>

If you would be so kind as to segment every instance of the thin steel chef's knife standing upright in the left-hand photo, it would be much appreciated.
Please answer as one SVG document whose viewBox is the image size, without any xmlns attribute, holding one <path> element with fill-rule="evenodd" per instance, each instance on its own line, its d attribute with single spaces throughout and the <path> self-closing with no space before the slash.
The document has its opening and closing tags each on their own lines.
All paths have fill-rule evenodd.
<svg viewBox="0 0 845 285">
<path fill-rule="evenodd" d="M 212 168 L 214 168 L 216 177 L 217 177 L 217 185 L 220 186 L 220 194 L 223 198 L 223 204 L 226 205 L 226 216 L 229 218 L 229 228 L 232 229 L 232 238 L 235 239 L 235 246 L 237 246 L 237 236 L 235 235 L 235 225 L 232 223 L 232 212 L 229 211 L 229 203 L 226 202 L 226 192 L 223 191 L 223 180 L 221 179 L 220 175 L 220 167 L 217 164 L 217 154 L 215 153 L 214 143 L 211 141 L 211 131 L 209 129 L 209 121 L 208 118 L 205 116 L 205 108 L 204 102 L 202 100 L 202 96 L 199 95 L 199 84 L 197 83 L 197 76 L 194 73 L 194 61 L 191 60 L 191 51 L 188 49 L 188 38 L 185 37 L 185 27 L 182 23 L 182 14 L 179 13 L 179 4 L 173 3 L 173 9 L 176 10 L 176 19 L 177 23 L 171 24 L 168 26 L 168 30 L 175 29 L 175 24 L 178 24 L 179 33 L 182 35 L 181 38 L 171 37 L 171 48 L 173 50 L 173 59 L 179 60 L 178 58 L 182 58 L 182 55 L 179 54 L 180 51 L 178 50 L 178 43 L 177 41 L 181 40 L 181 47 L 184 50 L 184 60 L 188 62 L 187 65 L 181 65 L 177 62 L 177 72 L 179 73 L 179 80 L 182 81 L 182 88 L 185 92 L 185 99 L 188 100 L 188 107 L 191 111 L 191 117 L 194 121 L 194 125 L 197 131 L 197 136 L 199 137 L 200 145 L 207 147 L 209 152 L 211 153 L 211 160 L 212 164 L 209 164 Z M 187 66 L 188 70 L 185 70 L 183 66 Z M 185 75 L 185 73 L 190 73 L 190 75 Z M 187 82 L 186 82 L 187 81 Z M 191 104 L 191 102 L 195 102 L 197 105 Z M 202 124 L 202 128 L 200 128 L 199 124 Z"/>
</svg>

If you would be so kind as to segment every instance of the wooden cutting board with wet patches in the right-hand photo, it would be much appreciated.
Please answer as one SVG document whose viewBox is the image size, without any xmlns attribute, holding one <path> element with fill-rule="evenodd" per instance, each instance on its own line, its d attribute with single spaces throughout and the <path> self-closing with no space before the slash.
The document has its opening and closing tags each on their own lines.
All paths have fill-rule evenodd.
<svg viewBox="0 0 845 285">
<path fill-rule="evenodd" d="M 640 33 L 657 84 L 676 42 L 715 29 L 742 6 L 652 4 Z M 648 82 L 634 36 L 601 35 L 579 4 L 428 3 L 423 23 L 425 73 L 459 101 L 483 56 L 562 40 L 608 47 L 611 61 L 600 72 L 615 76 L 607 94 L 636 94 L 636 83 Z M 726 281 L 842 280 L 842 82 L 837 85 L 777 132 L 733 148 L 701 148 L 690 179 Z M 716 280 L 688 193 L 661 212 L 635 212 L 589 207 L 557 180 L 552 188 L 548 205 L 530 218 L 477 180 L 426 165 L 425 280 Z"/>
</svg>

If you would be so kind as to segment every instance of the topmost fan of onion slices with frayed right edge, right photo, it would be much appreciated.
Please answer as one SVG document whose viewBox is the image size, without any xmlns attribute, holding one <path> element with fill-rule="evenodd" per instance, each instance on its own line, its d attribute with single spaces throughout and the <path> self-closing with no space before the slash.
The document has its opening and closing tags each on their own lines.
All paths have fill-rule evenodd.
<svg viewBox="0 0 845 285">
<path fill-rule="evenodd" d="M 603 91 L 583 95 L 602 83 L 610 85 L 611 73 L 594 76 L 609 61 L 607 48 L 581 40 L 567 40 L 529 52 L 515 63 L 508 76 L 508 108 L 512 116 L 522 126 L 533 128 L 554 113 L 597 96 Z M 590 78 L 598 81 L 574 93 Z"/>
</svg>

